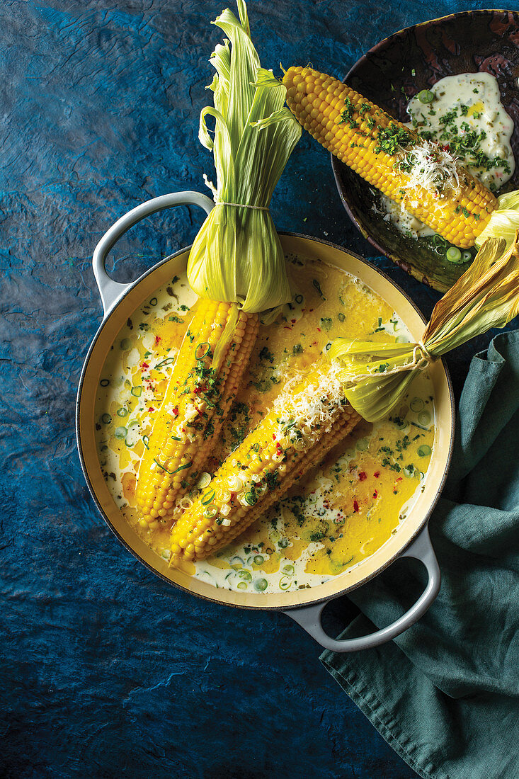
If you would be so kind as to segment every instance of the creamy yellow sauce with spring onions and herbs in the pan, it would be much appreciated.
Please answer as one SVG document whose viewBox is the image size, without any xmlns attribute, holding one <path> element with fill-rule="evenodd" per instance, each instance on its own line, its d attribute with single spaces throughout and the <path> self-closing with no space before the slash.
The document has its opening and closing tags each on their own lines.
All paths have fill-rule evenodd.
<svg viewBox="0 0 519 779">
<path fill-rule="evenodd" d="M 271 406 L 284 377 L 305 370 L 334 337 L 409 340 L 401 319 L 348 273 L 298 258 L 288 270 L 294 298 L 280 319 L 260 327 L 248 375 L 199 488 Z M 185 275 L 157 290 L 115 339 L 97 393 L 104 479 L 126 520 L 164 559 L 170 526 L 149 530 L 139 523 L 136 471 L 193 305 Z M 389 419 L 358 425 L 240 538 L 196 562 L 193 575 L 215 587 L 278 592 L 323 583 L 358 565 L 405 520 L 423 489 L 433 442 L 433 391 L 422 374 Z"/>
</svg>

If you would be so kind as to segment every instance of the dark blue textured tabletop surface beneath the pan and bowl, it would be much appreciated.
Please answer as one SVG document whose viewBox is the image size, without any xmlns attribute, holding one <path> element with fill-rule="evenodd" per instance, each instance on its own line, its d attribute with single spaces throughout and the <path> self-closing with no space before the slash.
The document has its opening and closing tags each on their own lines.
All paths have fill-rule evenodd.
<svg viewBox="0 0 519 779">
<path fill-rule="evenodd" d="M 479 5 L 250 0 L 249 16 L 263 65 L 310 61 L 342 77 L 395 30 Z M 105 527 L 79 468 L 76 386 L 101 319 L 90 256 L 130 207 L 203 189 L 198 114 L 220 38 L 209 20 L 222 7 L 0 4 L 2 776 L 415 776 L 298 626 L 155 578 Z M 308 136 L 272 210 L 281 230 L 372 256 Z M 200 215 L 182 208 L 132 231 L 115 277 L 189 245 Z M 435 292 L 373 261 L 430 313 Z M 457 391 L 488 340 L 450 356 Z M 350 608 L 331 607 L 332 629 Z"/>
</svg>

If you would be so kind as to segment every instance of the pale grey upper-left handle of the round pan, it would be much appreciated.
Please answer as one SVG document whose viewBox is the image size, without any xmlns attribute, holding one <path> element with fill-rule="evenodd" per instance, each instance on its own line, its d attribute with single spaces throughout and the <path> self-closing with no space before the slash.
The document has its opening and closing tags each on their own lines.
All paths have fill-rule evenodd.
<svg viewBox="0 0 519 779">
<path fill-rule="evenodd" d="M 108 273 L 104 270 L 108 252 L 113 249 L 118 239 L 130 227 L 133 227 L 145 217 L 149 217 L 151 213 L 163 211 L 166 208 L 171 208 L 171 206 L 199 206 L 206 213 L 210 213 L 214 203 L 209 197 L 201 195 L 199 192 L 171 192 L 169 195 L 154 197 L 125 213 L 115 224 L 112 224 L 97 244 L 92 257 L 92 266 L 94 267 L 94 276 L 96 277 L 105 315 L 108 314 L 108 311 L 115 305 L 115 302 L 118 301 L 121 295 L 132 286 L 131 284 L 120 284 L 108 276 Z"/>
</svg>

